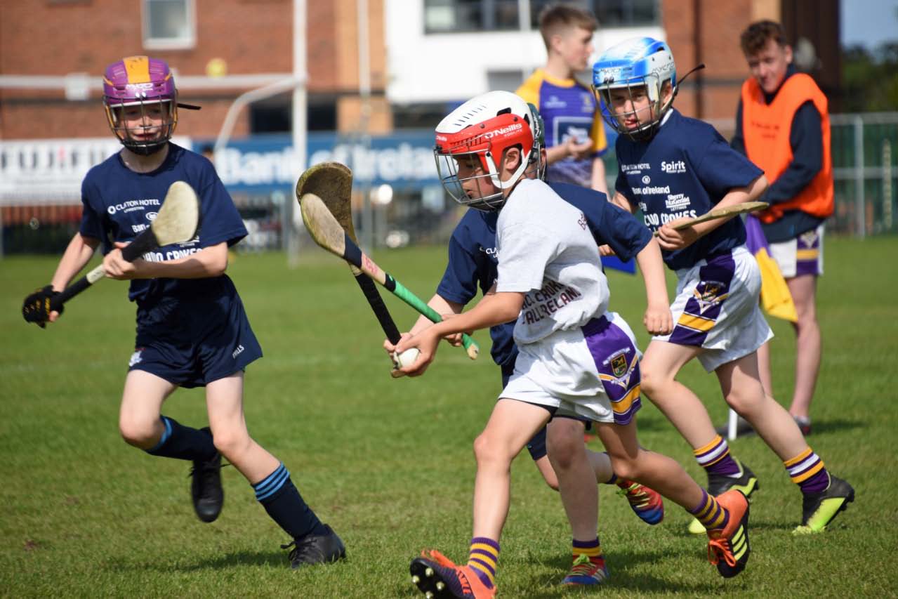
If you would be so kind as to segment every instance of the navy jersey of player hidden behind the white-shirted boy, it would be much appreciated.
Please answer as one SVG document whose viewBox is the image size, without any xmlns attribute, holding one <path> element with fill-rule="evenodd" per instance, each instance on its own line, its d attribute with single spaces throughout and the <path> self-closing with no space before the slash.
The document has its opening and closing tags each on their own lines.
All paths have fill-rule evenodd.
<svg viewBox="0 0 898 599">
<path fill-rule="evenodd" d="M 583 211 L 589 230 L 599 245 L 609 244 L 621 260 L 630 260 L 649 241 L 651 233 L 625 210 L 609 203 L 605 194 L 568 183 L 550 182 L 561 198 Z M 449 240 L 449 263 L 436 294 L 457 304 L 468 304 L 480 288 L 487 293 L 496 282 L 497 212 L 469 209 Z M 489 329 L 490 353 L 498 365 L 514 364 L 517 348 L 512 338 L 515 321 Z"/>
</svg>

